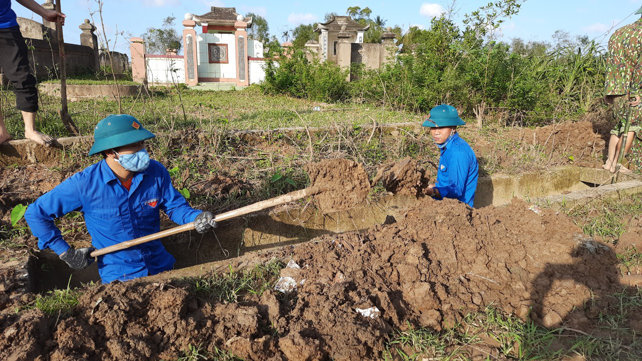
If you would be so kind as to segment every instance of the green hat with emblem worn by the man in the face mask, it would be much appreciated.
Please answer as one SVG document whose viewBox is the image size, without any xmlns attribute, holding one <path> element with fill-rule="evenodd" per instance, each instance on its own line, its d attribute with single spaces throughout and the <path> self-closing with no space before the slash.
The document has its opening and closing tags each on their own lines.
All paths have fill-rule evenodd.
<svg viewBox="0 0 642 361">
<path fill-rule="evenodd" d="M 94 128 L 94 145 L 89 155 L 98 154 L 107 149 L 113 149 L 127 144 L 134 144 L 156 137 L 151 131 L 141 126 L 132 115 L 108 115 Z"/>
</svg>

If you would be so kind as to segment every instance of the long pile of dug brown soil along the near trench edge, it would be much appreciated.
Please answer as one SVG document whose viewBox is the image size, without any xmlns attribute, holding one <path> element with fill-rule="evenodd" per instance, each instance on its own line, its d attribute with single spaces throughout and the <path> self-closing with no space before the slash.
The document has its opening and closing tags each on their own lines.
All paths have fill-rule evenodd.
<svg viewBox="0 0 642 361">
<path fill-rule="evenodd" d="M 487 305 L 523 317 L 532 307 L 537 323 L 588 331 L 621 286 L 614 251 L 578 233 L 569 217 L 519 200 L 474 210 L 423 198 L 393 224 L 264 255 L 300 265 L 282 274 L 297 281 L 294 298 L 211 304 L 180 283 L 112 283 L 57 323 L 39 311 L 0 315 L 0 358 L 175 359 L 201 344 L 251 360 L 370 360 L 408 323 L 440 330 Z M 374 318 L 356 311 L 371 307 Z"/>
</svg>

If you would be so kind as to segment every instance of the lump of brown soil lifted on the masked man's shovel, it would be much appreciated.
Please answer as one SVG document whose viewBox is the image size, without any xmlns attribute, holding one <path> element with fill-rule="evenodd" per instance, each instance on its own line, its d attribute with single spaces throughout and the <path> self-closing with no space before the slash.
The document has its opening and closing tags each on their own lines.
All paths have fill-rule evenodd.
<svg viewBox="0 0 642 361">
<path fill-rule="evenodd" d="M 315 196 L 324 214 L 360 205 L 368 196 L 370 181 L 363 165 L 347 159 L 326 159 L 304 166 L 311 187 L 324 190 Z"/>
</svg>

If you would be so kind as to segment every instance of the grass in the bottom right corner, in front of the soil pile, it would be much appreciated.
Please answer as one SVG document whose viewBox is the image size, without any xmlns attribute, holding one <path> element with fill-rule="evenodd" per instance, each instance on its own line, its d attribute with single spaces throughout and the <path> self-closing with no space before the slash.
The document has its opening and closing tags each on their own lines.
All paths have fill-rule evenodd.
<svg viewBox="0 0 642 361">
<path fill-rule="evenodd" d="M 609 337 L 564 328 L 547 330 L 528 319 L 505 315 L 489 306 L 470 314 L 461 323 L 442 332 L 413 328 L 391 335 L 385 360 L 471 360 L 471 353 L 486 354 L 487 360 L 562 360 L 579 355 L 584 360 L 637 360 L 642 343 L 627 326 L 627 316 L 642 310 L 642 289 L 609 297 L 618 301 L 598 316 L 598 327 Z M 563 332 L 563 333 L 562 333 Z M 486 347 L 482 347 L 486 346 Z M 490 346 L 493 355 L 487 353 Z"/>
</svg>

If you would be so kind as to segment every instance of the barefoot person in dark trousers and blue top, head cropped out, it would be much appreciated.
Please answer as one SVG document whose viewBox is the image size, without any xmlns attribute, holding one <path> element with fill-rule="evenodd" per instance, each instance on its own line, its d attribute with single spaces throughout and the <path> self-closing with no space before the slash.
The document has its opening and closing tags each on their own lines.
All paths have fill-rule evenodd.
<svg viewBox="0 0 642 361">
<path fill-rule="evenodd" d="M 34 0 L 16 0 L 16 2 L 48 21 L 60 22 L 64 25 L 64 13 L 47 10 Z M 38 89 L 35 77 L 29 72 L 27 45 L 24 43 L 10 0 L 0 0 L 0 67 L 3 69 L 4 76 L 13 85 L 15 106 L 22 112 L 22 120 L 24 120 L 24 137 L 43 146 L 51 146 L 51 137 L 36 130 Z M 10 139 L 9 132 L 4 126 L 3 115 L 0 112 L 0 144 L 8 139 Z"/>
</svg>

